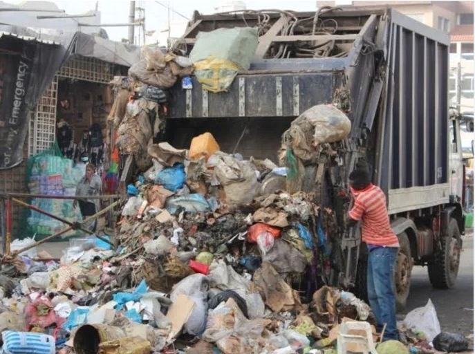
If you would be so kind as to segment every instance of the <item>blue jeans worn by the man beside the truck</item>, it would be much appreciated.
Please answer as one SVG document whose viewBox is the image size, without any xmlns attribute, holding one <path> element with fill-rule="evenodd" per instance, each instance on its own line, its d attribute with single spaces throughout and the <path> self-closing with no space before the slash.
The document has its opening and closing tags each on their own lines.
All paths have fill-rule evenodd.
<svg viewBox="0 0 475 354">
<path fill-rule="evenodd" d="M 394 297 L 394 270 L 398 248 L 380 247 L 368 254 L 368 298 L 369 305 L 378 322 L 378 331 L 384 331 L 384 340 L 399 339 L 396 326 Z"/>
</svg>

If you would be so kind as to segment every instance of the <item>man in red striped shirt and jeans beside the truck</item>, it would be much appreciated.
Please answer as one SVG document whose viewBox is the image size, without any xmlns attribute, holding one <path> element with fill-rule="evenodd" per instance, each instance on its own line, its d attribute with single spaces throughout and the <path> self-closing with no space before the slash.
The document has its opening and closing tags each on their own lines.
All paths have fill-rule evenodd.
<svg viewBox="0 0 475 354">
<path fill-rule="evenodd" d="M 398 236 L 391 231 L 386 196 L 370 182 L 366 162 L 358 162 L 350 174 L 353 207 L 348 212 L 348 226 L 361 221 L 362 239 L 368 247 L 367 287 L 369 304 L 384 340 L 399 339 L 396 327 L 394 270 L 398 257 Z"/>
</svg>

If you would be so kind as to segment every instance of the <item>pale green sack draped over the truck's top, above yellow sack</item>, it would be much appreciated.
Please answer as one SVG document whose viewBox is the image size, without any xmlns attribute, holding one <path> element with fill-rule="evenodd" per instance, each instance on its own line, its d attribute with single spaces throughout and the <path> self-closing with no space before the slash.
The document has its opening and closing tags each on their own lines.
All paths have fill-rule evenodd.
<svg viewBox="0 0 475 354">
<path fill-rule="evenodd" d="M 248 70 L 259 37 L 255 28 L 219 28 L 212 32 L 200 32 L 189 59 L 193 63 L 210 57 L 230 60 L 242 70 Z"/>
</svg>

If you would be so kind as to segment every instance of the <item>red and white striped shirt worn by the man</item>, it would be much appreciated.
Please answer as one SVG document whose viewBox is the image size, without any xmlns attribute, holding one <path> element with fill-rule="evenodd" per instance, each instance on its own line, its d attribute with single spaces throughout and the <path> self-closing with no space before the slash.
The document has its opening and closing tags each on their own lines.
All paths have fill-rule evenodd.
<svg viewBox="0 0 475 354">
<path fill-rule="evenodd" d="M 369 245 L 398 245 L 398 237 L 391 231 L 386 196 L 380 187 L 369 185 L 365 189 L 351 189 L 355 204 L 348 216 L 362 222 L 363 241 Z"/>
</svg>

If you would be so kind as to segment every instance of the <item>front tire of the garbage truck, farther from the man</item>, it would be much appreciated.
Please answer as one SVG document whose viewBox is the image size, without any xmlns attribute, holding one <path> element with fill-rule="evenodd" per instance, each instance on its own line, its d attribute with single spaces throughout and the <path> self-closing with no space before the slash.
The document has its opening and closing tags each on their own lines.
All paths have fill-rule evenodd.
<svg viewBox="0 0 475 354">
<path fill-rule="evenodd" d="M 450 219 L 447 235 L 440 239 L 441 248 L 429 262 L 429 280 L 436 289 L 450 289 L 454 287 L 460 265 L 460 231 L 457 221 Z"/>
</svg>

